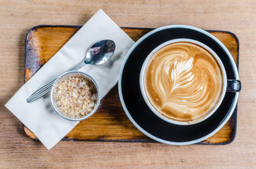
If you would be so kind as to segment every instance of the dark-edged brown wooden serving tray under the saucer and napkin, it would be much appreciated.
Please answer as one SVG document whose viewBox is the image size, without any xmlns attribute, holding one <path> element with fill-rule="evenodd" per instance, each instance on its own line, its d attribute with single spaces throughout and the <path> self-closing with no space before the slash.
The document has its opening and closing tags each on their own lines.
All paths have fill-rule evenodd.
<svg viewBox="0 0 256 169">
<path fill-rule="evenodd" d="M 36 73 L 81 26 L 40 25 L 33 27 L 25 43 L 25 82 Z M 152 29 L 122 28 L 135 42 Z M 209 31 L 226 45 L 238 65 L 238 39 L 231 32 Z M 199 144 L 229 144 L 235 139 L 237 108 L 228 123 L 214 136 Z M 25 134 L 37 139 L 33 132 L 23 126 Z M 117 85 L 100 102 L 95 114 L 81 121 L 63 140 L 156 142 L 140 132 L 124 113 Z"/>
</svg>

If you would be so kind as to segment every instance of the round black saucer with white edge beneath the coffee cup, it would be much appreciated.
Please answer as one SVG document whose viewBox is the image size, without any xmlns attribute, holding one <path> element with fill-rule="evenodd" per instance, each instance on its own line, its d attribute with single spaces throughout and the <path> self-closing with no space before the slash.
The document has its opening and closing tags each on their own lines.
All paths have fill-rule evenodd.
<svg viewBox="0 0 256 169">
<path fill-rule="evenodd" d="M 209 32 L 186 25 L 160 27 L 141 37 L 128 52 L 120 72 L 119 93 L 128 118 L 141 132 L 158 142 L 185 145 L 201 142 L 218 132 L 231 117 L 238 93 L 226 92 L 221 106 L 211 117 L 194 125 L 173 125 L 158 118 L 146 105 L 139 87 L 144 59 L 153 49 L 171 39 L 194 39 L 209 46 L 221 58 L 228 79 L 238 79 L 238 70 L 228 49 Z"/>
</svg>

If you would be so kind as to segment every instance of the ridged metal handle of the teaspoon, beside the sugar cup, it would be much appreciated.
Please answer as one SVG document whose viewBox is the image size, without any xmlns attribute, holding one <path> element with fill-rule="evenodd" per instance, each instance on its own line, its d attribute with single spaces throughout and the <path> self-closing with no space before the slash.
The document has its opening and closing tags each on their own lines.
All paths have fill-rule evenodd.
<svg viewBox="0 0 256 169">
<path fill-rule="evenodd" d="M 86 65 L 86 63 L 85 62 L 78 63 L 78 65 L 74 66 L 74 68 L 71 68 L 68 72 L 78 70 L 78 69 L 82 68 L 83 65 Z M 37 89 L 33 94 L 31 94 L 28 97 L 27 102 L 31 103 L 31 102 L 39 99 L 40 97 L 45 96 L 45 94 L 50 92 L 50 90 L 52 89 L 52 84 L 54 84 L 55 80 L 57 80 L 57 77 L 54 78 L 54 80 L 47 82 L 47 84 L 45 84 L 42 87 L 40 87 L 39 89 Z"/>
</svg>

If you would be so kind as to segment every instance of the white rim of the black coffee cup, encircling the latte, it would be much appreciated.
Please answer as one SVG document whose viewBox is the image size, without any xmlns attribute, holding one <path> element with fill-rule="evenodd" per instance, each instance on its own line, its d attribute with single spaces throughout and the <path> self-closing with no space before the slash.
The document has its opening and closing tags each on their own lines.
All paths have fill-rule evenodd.
<svg viewBox="0 0 256 169">
<path fill-rule="evenodd" d="M 188 123 L 188 122 L 180 122 L 180 121 L 176 121 L 176 120 L 172 120 L 170 118 L 166 118 L 165 116 L 161 115 L 161 113 L 159 113 L 156 108 L 153 108 L 153 106 L 151 105 L 150 101 L 149 101 L 149 98 L 146 96 L 146 92 L 145 92 L 145 87 L 144 87 L 144 75 L 145 75 L 145 70 L 146 70 L 146 65 L 149 61 L 149 59 L 151 58 L 151 56 L 156 52 L 158 51 L 159 49 L 161 49 L 163 46 L 166 46 L 168 44 L 174 44 L 174 43 L 177 43 L 177 42 L 190 42 L 190 43 L 193 43 L 193 44 L 197 44 L 199 46 L 202 46 L 202 48 L 206 49 L 206 51 L 209 51 L 209 53 L 211 53 L 214 58 L 216 58 L 216 62 L 220 65 L 221 67 L 221 73 L 222 73 L 222 77 L 223 77 L 223 89 L 221 91 L 221 98 L 219 99 L 218 103 L 216 104 L 216 106 L 209 112 L 207 113 L 206 116 L 204 116 L 204 118 L 200 119 L 200 120 L 197 120 L 196 122 L 192 122 L 192 123 Z M 140 72 L 140 80 L 139 80 L 139 86 L 140 86 L 140 89 L 141 89 L 141 94 L 144 98 L 144 101 L 146 102 L 147 106 L 149 106 L 149 108 L 151 109 L 151 111 L 153 113 L 155 113 L 158 118 L 161 118 L 163 120 L 165 120 L 166 122 L 168 123 L 173 123 L 175 125 L 194 125 L 194 124 L 197 124 L 197 123 L 201 123 L 202 121 L 206 120 L 207 118 L 209 118 L 211 115 L 213 115 L 215 113 L 215 111 L 219 108 L 219 106 L 221 105 L 222 101 L 223 101 L 223 98 L 226 94 L 226 86 L 227 86 L 227 77 L 226 77 L 226 70 L 225 70 L 225 67 L 221 61 L 221 58 L 219 58 L 219 56 L 215 53 L 215 51 L 213 51 L 209 46 L 206 46 L 206 44 L 203 44 L 202 42 L 199 42 L 197 40 L 194 40 L 194 39 L 187 39 L 187 38 L 178 38 L 178 39 L 172 39 L 172 40 L 169 40 L 167 42 L 164 42 L 163 44 L 160 44 L 158 45 L 155 49 L 153 49 L 153 51 L 151 51 L 151 53 L 146 56 L 146 59 L 144 60 L 144 63 L 141 67 L 141 72 Z"/>
</svg>

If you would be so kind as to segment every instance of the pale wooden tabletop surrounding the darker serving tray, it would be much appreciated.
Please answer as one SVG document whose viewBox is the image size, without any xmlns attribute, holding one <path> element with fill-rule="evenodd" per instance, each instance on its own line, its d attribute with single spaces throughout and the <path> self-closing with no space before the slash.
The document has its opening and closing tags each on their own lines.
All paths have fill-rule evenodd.
<svg viewBox="0 0 256 169">
<path fill-rule="evenodd" d="M 227 145 L 59 142 L 47 151 L 28 138 L 4 104 L 23 85 L 25 36 L 35 25 L 83 25 L 102 8 L 120 27 L 185 24 L 233 32 L 240 42 L 238 125 Z M 0 168 L 255 168 L 255 1 L 0 0 Z"/>
</svg>

